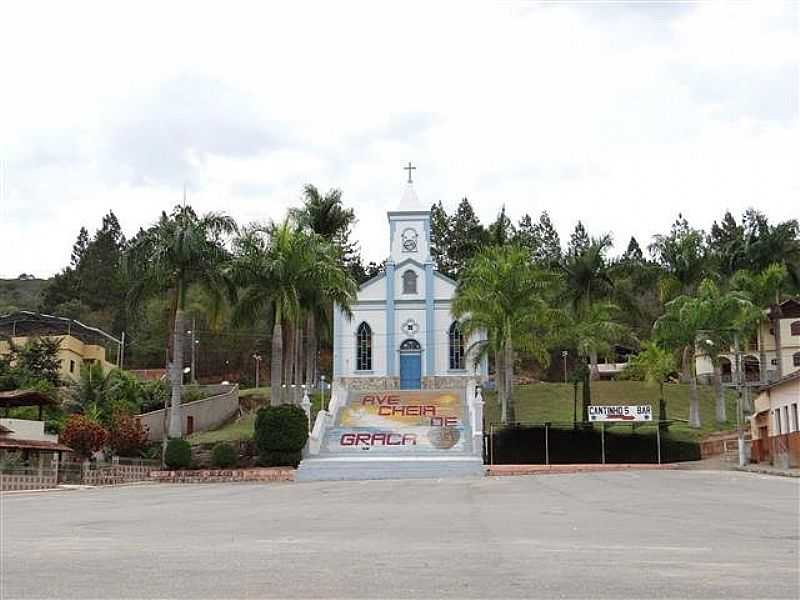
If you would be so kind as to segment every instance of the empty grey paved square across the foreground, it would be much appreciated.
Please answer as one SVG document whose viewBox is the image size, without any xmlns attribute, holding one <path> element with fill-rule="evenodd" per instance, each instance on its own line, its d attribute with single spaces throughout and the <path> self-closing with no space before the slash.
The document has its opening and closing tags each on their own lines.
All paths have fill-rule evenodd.
<svg viewBox="0 0 800 600">
<path fill-rule="evenodd" d="M 2 598 L 798 598 L 800 481 L 731 471 L 0 498 Z"/>
</svg>

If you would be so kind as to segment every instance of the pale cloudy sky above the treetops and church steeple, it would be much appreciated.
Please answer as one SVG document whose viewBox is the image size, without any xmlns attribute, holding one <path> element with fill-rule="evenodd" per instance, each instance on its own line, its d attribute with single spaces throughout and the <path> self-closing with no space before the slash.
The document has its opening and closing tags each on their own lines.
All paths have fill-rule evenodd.
<svg viewBox="0 0 800 600">
<path fill-rule="evenodd" d="M 0 277 L 180 203 L 281 219 L 343 190 L 388 254 L 425 204 L 580 219 L 622 252 L 682 213 L 800 216 L 797 2 L 53 2 L 0 20 Z"/>
</svg>

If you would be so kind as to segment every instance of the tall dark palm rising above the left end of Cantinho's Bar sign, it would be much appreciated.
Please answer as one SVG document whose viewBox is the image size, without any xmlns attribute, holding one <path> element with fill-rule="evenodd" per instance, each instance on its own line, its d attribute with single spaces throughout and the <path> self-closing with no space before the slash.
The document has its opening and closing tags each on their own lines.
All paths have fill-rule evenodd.
<svg viewBox="0 0 800 600">
<path fill-rule="evenodd" d="M 611 236 L 592 238 L 588 246 L 578 252 L 569 253 L 561 263 L 565 275 L 567 303 L 576 316 L 588 315 L 595 302 L 608 298 L 614 290 L 606 252 L 611 248 Z M 591 350 L 591 377 L 597 379 L 597 351 Z"/>
</svg>

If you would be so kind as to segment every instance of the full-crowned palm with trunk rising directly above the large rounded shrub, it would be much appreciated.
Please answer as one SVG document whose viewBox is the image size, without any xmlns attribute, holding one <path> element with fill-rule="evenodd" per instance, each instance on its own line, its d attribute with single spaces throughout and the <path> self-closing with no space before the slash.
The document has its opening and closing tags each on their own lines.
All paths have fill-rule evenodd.
<svg viewBox="0 0 800 600">
<path fill-rule="evenodd" d="M 271 402 L 279 396 L 284 371 L 284 325 L 295 327 L 304 301 L 316 295 L 349 312 L 356 285 L 330 243 L 288 219 L 269 227 L 254 225 L 235 242 L 234 280 L 244 290 L 233 313 L 235 323 L 272 319 Z M 288 354 L 288 353 L 287 353 Z M 292 359 L 291 355 L 288 357 Z"/>
</svg>

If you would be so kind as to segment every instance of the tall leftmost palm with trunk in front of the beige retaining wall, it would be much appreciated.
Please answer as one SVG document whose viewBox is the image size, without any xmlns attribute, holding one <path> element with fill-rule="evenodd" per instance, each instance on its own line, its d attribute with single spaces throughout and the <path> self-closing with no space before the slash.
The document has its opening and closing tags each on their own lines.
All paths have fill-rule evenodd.
<svg viewBox="0 0 800 600">
<path fill-rule="evenodd" d="M 168 435 L 180 437 L 183 386 L 183 347 L 186 324 L 184 313 L 189 288 L 202 287 L 219 301 L 233 301 L 236 289 L 227 276 L 229 253 L 227 236 L 237 231 L 236 222 L 221 213 L 198 216 L 190 206 L 176 206 L 171 214 L 161 214 L 158 222 L 134 239 L 125 257 L 132 282 L 128 302 L 132 308 L 157 294 L 168 294 L 172 301 L 172 362 L 169 363 L 172 397 Z"/>
</svg>

